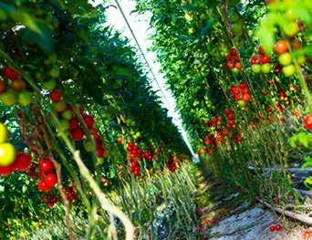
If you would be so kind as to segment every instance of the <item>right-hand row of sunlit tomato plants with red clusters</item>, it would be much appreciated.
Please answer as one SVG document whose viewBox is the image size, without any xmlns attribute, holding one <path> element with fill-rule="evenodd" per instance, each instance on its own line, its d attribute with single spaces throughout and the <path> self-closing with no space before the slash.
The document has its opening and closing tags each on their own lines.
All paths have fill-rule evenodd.
<svg viewBox="0 0 312 240">
<path fill-rule="evenodd" d="M 310 164 L 311 5 L 137 2 L 153 13 L 153 49 L 202 161 L 221 181 L 270 202 L 283 193 L 284 203 L 300 199 L 286 190 L 286 169 Z M 304 153 L 293 159 L 292 147 Z"/>
</svg>

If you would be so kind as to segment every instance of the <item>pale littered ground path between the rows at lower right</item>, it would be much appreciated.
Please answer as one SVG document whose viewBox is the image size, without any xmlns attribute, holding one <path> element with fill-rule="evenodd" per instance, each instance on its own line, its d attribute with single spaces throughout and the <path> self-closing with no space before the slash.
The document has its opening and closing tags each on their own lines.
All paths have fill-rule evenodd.
<svg viewBox="0 0 312 240">
<path fill-rule="evenodd" d="M 200 194 L 212 193 L 220 186 L 207 183 L 198 172 Z M 213 190 L 212 190 L 213 189 Z M 220 190 L 220 189 L 219 189 Z M 281 215 L 265 208 L 261 203 L 251 205 L 234 193 L 226 198 L 216 197 L 200 208 L 204 240 L 310 240 L 312 232 L 302 225 L 283 221 Z M 215 196 L 214 196 L 215 199 Z M 213 200 L 210 197 L 210 200 Z M 287 225 L 285 225 L 287 224 Z M 278 225 L 277 231 L 270 227 Z"/>
</svg>

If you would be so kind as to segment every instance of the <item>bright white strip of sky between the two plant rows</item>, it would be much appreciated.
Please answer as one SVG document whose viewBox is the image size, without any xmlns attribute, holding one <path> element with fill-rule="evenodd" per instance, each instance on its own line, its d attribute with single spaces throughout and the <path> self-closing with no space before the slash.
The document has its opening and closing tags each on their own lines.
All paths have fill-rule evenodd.
<svg viewBox="0 0 312 240">
<path fill-rule="evenodd" d="M 89 0 L 89 3 L 92 3 L 92 5 L 99 5 L 102 2 L 103 2 L 102 0 L 93 0 L 93 1 Z M 179 130 L 181 130 L 184 140 L 187 142 L 189 148 L 192 149 L 189 141 L 187 140 L 186 132 L 182 129 L 182 120 L 180 118 L 180 115 L 175 110 L 175 100 L 172 98 L 172 94 L 170 93 L 170 91 L 166 88 L 163 75 L 160 73 L 161 66 L 156 61 L 155 53 L 148 51 L 148 48 L 151 47 L 151 39 L 148 38 L 149 33 L 151 31 L 151 29 L 149 29 L 149 19 L 151 16 L 148 16 L 148 15 L 140 16 L 135 13 L 131 14 L 131 11 L 135 9 L 135 1 L 133 0 L 120 0 L 119 3 L 125 16 L 127 17 L 130 23 L 130 26 L 134 32 L 134 35 L 137 37 L 137 40 L 140 44 L 140 47 L 142 48 L 144 52 L 145 57 L 149 61 L 152 71 L 154 75 L 156 76 L 157 81 L 159 82 L 159 85 L 161 86 L 161 90 L 159 86 L 157 85 L 156 81 L 153 80 L 151 73 L 149 72 L 147 75 L 151 79 L 151 87 L 154 90 L 158 91 L 158 96 L 160 97 L 163 103 L 163 106 L 168 109 L 169 116 L 172 117 L 173 123 L 178 126 Z M 115 4 L 115 1 L 111 1 L 110 4 L 106 3 L 104 5 L 116 5 L 116 4 Z M 130 29 L 126 25 L 126 22 L 123 16 L 120 14 L 120 10 L 115 7 L 110 6 L 107 8 L 106 13 L 108 17 L 107 19 L 108 25 L 114 26 L 115 29 L 120 30 L 123 36 L 128 37 L 130 39 L 130 44 L 133 47 L 137 47 L 131 35 Z M 140 54 L 139 51 L 138 51 L 138 54 Z M 143 58 L 142 58 L 142 63 L 144 64 Z"/>
</svg>

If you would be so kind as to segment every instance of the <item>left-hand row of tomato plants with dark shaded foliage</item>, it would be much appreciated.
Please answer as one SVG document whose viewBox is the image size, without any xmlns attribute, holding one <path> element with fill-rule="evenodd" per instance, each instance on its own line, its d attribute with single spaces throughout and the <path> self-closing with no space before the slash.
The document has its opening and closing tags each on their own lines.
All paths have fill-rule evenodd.
<svg viewBox="0 0 312 240">
<path fill-rule="evenodd" d="M 116 191 L 120 179 L 131 176 L 141 183 L 164 168 L 174 172 L 187 153 L 177 128 L 127 39 L 103 26 L 102 6 L 65 1 L 0 5 L 2 235 L 42 222 L 36 215 L 48 213 L 42 203 L 53 208 L 61 201 L 70 239 L 75 239 L 72 205 L 84 217 L 103 210 L 119 217 L 130 239 L 129 217 L 102 191 Z M 10 139 L 16 125 L 19 130 Z M 31 193 L 29 201 L 21 188 Z M 35 215 L 22 211 L 16 222 L 8 211 L 12 204 L 16 210 L 35 208 Z M 95 235 L 95 224 L 88 222 L 88 238 Z"/>
</svg>

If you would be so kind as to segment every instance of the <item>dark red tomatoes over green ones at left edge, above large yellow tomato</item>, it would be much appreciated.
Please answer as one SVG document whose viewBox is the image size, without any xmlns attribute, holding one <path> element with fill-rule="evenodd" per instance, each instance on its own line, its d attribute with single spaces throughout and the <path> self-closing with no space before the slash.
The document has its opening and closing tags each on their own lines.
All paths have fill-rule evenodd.
<svg viewBox="0 0 312 240">
<path fill-rule="evenodd" d="M 5 106 L 12 106 L 16 102 L 28 106 L 32 101 L 32 94 L 26 89 L 26 81 L 21 78 L 16 69 L 5 66 L 2 70 L 4 79 L 0 79 L 0 100 Z"/>
</svg>

